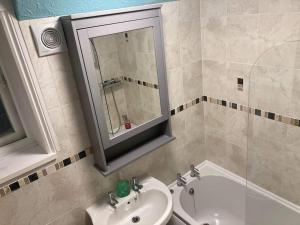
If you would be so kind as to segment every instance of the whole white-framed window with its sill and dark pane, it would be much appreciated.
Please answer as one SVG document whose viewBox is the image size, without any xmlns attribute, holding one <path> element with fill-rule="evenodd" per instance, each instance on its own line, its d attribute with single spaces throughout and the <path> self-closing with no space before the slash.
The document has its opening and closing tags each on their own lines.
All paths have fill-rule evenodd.
<svg viewBox="0 0 300 225">
<path fill-rule="evenodd" d="M 0 186 L 55 160 L 58 146 L 12 15 L 0 4 Z"/>
</svg>

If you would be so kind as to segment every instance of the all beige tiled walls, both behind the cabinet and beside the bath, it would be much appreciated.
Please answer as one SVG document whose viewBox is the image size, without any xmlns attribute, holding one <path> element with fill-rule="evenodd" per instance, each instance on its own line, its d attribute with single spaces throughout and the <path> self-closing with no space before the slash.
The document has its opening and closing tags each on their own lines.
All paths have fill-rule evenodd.
<svg viewBox="0 0 300 225">
<path fill-rule="evenodd" d="M 299 38 L 299 16 L 297 0 L 164 4 L 177 139 L 107 178 L 92 166 L 92 156 L 41 177 L 0 199 L 0 224 L 84 224 L 85 208 L 117 179 L 150 174 L 169 183 L 176 172 L 204 159 L 242 176 L 248 169 L 250 181 L 300 204 L 299 48 L 298 42 L 285 42 Z M 53 20 L 20 25 L 60 142 L 61 161 L 90 143 L 68 56 L 38 58 L 30 36 L 30 24 Z M 244 79 L 243 91 L 238 78 Z"/>
</svg>

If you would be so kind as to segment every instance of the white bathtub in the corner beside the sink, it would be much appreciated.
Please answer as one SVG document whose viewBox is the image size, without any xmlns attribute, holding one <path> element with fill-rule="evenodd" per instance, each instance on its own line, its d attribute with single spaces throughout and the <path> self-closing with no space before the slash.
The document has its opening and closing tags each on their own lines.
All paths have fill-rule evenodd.
<svg viewBox="0 0 300 225">
<path fill-rule="evenodd" d="M 246 185 L 243 178 L 209 161 L 197 169 L 200 178 L 187 173 L 185 187 L 176 181 L 169 186 L 174 215 L 180 220 L 170 225 L 300 225 L 299 206 L 252 183 Z"/>
</svg>

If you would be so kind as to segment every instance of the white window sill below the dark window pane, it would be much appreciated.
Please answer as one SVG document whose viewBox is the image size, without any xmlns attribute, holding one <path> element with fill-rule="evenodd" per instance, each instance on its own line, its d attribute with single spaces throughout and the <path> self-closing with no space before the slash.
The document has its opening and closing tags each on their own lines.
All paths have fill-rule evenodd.
<svg viewBox="0 0 300 225">
<path fill-rule="evenodd" d="M 28 140 L 26 142 L 28 144 Z M 0 186 L 56 159 L 55 153 L 44 153 L 32 142 L 20 149 L 1 151 L 2 149 L 0 149 Z"/>
</svg>

